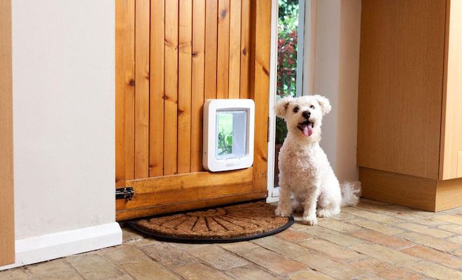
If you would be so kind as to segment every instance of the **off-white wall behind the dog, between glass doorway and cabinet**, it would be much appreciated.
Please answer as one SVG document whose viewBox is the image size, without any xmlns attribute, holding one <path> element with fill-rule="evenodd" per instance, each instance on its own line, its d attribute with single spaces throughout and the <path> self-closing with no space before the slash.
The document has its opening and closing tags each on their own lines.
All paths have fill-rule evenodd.
<svg viewBox="0 0 462 280">
<path fill-rule="evenodd" d="M 316 1 L 314 93 L 330 99 L 323 146 L 339 181 L 358 180 L 360 0 Z"/>
</svg>

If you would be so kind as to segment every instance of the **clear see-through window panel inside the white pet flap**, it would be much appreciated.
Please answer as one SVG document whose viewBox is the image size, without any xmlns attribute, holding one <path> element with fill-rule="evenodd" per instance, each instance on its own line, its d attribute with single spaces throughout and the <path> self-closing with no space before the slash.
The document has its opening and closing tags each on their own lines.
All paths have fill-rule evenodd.
<svg viewBox="0 0 462 280">
<path fill-rule="evenodd" d="M 242 158 L 247 148 L 246 110 L 216 112 L 216 153 L 218 160 Z"/>
</svg>

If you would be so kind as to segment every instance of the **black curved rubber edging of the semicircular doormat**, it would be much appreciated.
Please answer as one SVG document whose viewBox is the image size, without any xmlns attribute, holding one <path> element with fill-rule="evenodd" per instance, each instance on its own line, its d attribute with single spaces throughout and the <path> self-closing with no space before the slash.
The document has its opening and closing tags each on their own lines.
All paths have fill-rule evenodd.
<svg viewBox="0 0 462 280">
<path fill-rule="evenodd" d="M 293 223 L 295 223 L 295 220 L 293 219 L 293 216 L 290 215 L 286 224 L 281 225 L 279 228 L 275 228 L 274 230 L 269 230 L 269 232 L 262 232 L 257 235 L 246 235 L 242 237 L 233 237 L 233 238 L 226 238 L 226 239 L 186 238 L 186 237 L 169 237 L 166 235 L 157 235 L 155 233 L 143 230 L 135 222 L 136 221 L 130 221 L 127 223 L 127 225 L 129 225 L 130 228 L 136 230 L 137 232 L 141 233 L 145 237 L 158 239 L 160 241 L 168 241 L 168 242 L 176 242 L 176 243 L 213 244 L 213 243 L 233 243 L 233 242 L 239 242 L 239 241 L 248 241 L 252 239 L 267 237 L 269 235 L 276 235 L 276 233 L 282 232 L 283 230 L 287 230 L 288 228 L 290 228 L 290 226 L 293 225 Z"/>
</svg>

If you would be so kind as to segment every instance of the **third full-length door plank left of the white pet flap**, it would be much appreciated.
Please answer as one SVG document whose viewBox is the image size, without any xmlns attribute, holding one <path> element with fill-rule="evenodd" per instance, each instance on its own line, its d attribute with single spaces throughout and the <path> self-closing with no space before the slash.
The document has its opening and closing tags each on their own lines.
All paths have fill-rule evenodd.
<svg viewBox="0 0 462 280">
<path fill-rule="evenodd" d="M 164 174 L 177 173 L 178 1 L 165 1 Z"/>
</svg>

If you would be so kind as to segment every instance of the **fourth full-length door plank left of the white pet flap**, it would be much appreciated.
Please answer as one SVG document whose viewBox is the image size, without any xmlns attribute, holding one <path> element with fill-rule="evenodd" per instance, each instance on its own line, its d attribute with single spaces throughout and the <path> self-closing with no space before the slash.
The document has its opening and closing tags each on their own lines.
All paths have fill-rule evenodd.
<svg viewBox="0 0 462 280">
<path fill-rule="evenodd" d="M 165 0 L 151 0 L 149 176 L 164 174 Z"/>
</svg>

